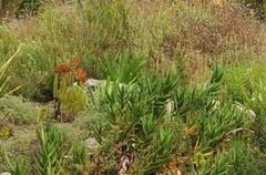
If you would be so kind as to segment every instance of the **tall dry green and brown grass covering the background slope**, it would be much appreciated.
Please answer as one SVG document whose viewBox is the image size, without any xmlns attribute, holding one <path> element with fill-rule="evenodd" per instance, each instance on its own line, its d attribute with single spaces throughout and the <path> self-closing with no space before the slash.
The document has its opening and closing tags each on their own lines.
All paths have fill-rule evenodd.
<svg viewBox="0 0 266 175">
<path fill-rule="evenodd" d="M 253 14 L 236 4 L 202 0 L 54 2 L 38 17 L 9 27 L 11 30 L 4 28 L 12 40 L 4 39 L 6 34 L 0 38 L 6 48 L 2 58 L 10 54 L 7 48 L 27 45 L 13 65 L 14 84 L 30 84 L 32 76 L 38 84 L 48 84 L 54 62 L 72 56 L 82 60 L 91 78 L 101 78 L 96 60 L 105 54 L 115 58 L 124 50 L 149 58 L 152 72 L 173 70 L 177 64 L 197 81 L 205 79 L 214 62 L 232 64 L 265 55 L 264 24 Z M 29 93 L 31 89 L 29 85 Z"/>
</svg>

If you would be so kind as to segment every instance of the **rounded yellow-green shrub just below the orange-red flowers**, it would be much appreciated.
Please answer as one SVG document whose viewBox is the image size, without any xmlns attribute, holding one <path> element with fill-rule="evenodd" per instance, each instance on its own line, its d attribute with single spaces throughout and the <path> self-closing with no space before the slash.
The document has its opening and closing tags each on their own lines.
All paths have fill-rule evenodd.
<svg viewBox="0 0 266 175">
<path fill-rule="evenodd" d="M 85 110 L 88 97 L 80 87 L 66 87 L 59 92 L 59 100 L 62 104 L 63 112 L 78 113 Z"/>
</svg>

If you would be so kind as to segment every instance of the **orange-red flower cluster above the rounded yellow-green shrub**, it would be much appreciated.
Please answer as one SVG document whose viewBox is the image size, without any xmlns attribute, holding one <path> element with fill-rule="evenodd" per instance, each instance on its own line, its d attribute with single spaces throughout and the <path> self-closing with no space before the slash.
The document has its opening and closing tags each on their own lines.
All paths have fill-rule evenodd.
<svg viewBox="0 0 266 175">
<path fill-rule="evenodd" d="M 69 64 L 65 63 L 59 64 L 58 66 L 54 68 L 54 72 L 59 74 L 72 72 L 74 73 L 75 79 L 82 83 L 84 83 L 89 79 L 86 71 L 84 71 L 84 69 L 81 68 L 80 59 L 76 58 L 72 58 Z"/>
</svg>

